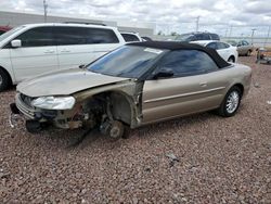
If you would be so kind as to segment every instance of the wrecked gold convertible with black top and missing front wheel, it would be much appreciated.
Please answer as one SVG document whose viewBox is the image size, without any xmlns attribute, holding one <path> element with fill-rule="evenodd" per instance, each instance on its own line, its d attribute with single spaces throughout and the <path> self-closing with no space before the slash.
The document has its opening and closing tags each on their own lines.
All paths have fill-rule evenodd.
<svg viewBox="0 0 271 204">
<path fill-rule="evenodd" d="M 112 138 L 137 128 L 208 110 L 233 116 L 248 92 L 251 69 L 229 64 L 198 44 L 144 41 L 122 46 L 82 69 L 21 82 L 13 113 L 30 132 L 99 127 Z"/>
</svg>

